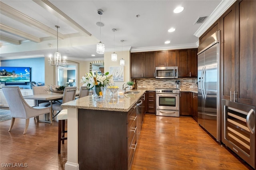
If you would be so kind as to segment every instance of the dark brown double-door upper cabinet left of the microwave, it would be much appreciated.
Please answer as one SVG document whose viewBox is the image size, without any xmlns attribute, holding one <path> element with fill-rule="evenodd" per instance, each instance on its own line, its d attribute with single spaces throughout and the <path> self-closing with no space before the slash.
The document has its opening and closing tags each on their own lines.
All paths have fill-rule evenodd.
<svg viewBox="0 0 256 170">
<path fill-rule="evenodd" d="M 131 78 L 155 77 L 155 51 L 131 53 Z"/>
</svg>

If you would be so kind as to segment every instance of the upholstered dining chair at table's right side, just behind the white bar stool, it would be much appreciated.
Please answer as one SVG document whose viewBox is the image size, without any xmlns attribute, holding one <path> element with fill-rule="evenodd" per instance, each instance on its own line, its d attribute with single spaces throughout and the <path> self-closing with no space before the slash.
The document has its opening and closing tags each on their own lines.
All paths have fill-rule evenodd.
<svg viewBox="0 0 256 170">
<path fill-rule="evenodd" d="M 62 103 L 67 103 L 69 101 L 74 100 L 76 97 L 76 87 L 65 87 L 62 97 Z M 55 103 L 52 105 L 52 118 L 56 117 L 60 111 L 62 110 L 61 104 L 62 103 Z M 54 115 L 54 111 L 58 111 Z"/>
</svg>

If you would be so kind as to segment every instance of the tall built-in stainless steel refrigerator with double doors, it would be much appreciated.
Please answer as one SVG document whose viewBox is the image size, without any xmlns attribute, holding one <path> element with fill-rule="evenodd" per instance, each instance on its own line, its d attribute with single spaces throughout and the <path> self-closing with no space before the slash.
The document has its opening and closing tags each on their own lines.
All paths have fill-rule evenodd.
<svg viewBox="0 0 256 170">
<path fill-rule="evenodd" d="M 198 47 L 198 124 L 220 141 L 219 32 Z"/>
</svg>

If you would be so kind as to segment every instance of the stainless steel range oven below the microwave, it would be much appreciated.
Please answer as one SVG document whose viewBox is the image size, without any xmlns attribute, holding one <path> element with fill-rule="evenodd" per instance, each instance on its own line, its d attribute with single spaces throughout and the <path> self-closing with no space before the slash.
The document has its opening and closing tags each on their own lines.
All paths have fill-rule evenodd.
<svg viewBox="0 0 256 170">
<path fill-rule="evenodd" d="M 180 89 L 156 89 L 156 115 L 180 117 Z"/>
</svg>

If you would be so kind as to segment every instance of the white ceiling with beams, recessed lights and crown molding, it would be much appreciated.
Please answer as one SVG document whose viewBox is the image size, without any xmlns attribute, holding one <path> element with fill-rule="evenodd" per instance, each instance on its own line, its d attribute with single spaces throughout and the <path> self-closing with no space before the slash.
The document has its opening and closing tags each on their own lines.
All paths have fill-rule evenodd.
<svg viewBox="0 0 256 170">
<path fill-rule="evenodd" d="M 154 51 L 197 47 L 198 37 L 235 0 L 1 0 L 0 57 L 38 56 L 54 53 L 81 60 L 103 58 L 105 51 Z M 175 14 L 174 8 L 184 11 Z M 101 22 L 98 9 L 102 9 Z M 139 15 L 137 18 L 136 15 Z M 208 16 L 203 24 L 198 17 Z M 175 32 L 168 32 L 170 28 Z M 114 33 L 112 29 L 117 31 Z M 115 41 L 114 41 L 115 34 Z M 29 40 L 29 41 L 27 41 Z M 123 43 L 120 40 L 124 40 Z M 164 44 L 170 40 L 169 44 Z M 91 55 L 95 54 L 95 57 Z"/>
</svg>

